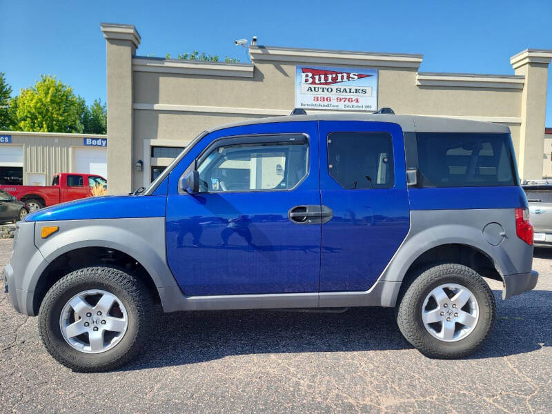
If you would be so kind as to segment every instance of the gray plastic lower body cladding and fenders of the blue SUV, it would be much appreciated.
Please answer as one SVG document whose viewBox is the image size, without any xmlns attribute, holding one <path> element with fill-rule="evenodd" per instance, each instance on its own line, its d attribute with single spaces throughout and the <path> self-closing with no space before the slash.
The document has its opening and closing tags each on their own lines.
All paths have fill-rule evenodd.
<svg viewBox="0 0 552 414">
<path fill-rule="evenodd" d="M 40 228 L 46 225 L 59 226 L 59 233 L 41 239 Z M 377 282 L 362 292 L 186 296 L 166 263 L 165 232 L 164 217 L 44 221 L 36 226 L 33 222 L 21 223 L 16 243 L 26 247 L 15 250 L 5 270 L 10 301 L 21 313 L 32 315 L 34 290 L 48 264 L 63 253 L 90 246 L 114 248 L 137 259 L 157 287 L 166 312 L 395 306 L 402 280 L 415 259 L 446 244 L 471 246 L 489 257 L 504 281 L 505 299 L 531 290 L 538 278 L 531 272 L 533 246 L 515 233 L 513 209 L 411 211 L 408 235 Z"/>
</svg>

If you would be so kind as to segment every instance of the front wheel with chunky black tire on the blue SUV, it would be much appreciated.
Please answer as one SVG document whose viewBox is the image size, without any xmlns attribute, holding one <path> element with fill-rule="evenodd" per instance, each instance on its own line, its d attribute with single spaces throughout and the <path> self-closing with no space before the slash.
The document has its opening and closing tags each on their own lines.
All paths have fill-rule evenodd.
<svg viewBox="0 0 552 414">
<path fill-rule="evenodd" d="M 90 318 L 88 311 L 86 311 L 86 315 L 84 311 L 81 311 L 79 315 L 83 314 L 83 316 L 77 317 L 77 311 L 71 308 L 69 303 L 72 303 L 75 297 L 84 297 L 83 293 L 95 291 L 103 292 L 106 297 L 112 295 L 117 299 L 113 302 L 112 310 L 117 308 L 118 311 L 122 311 L 121 314 L 126 319 L 124 331 L 122 329 L 117 333 L 103 331 L 106 326 L 110 327 L 111 322 L 108 321 L 108 325 L 103 325 L 102 328 L 101 324 L 106 324 L 102 318 L 117 320 L 120 325 L 125 323 L 120 322 L 124 319 L 110 316 L 112 311 L 106 311 L 102 317 L 92 315 Z M 101 294 L 101 298 L 103 298 L 103 294 Z M 89 309 L 90 313 L 96 313 L 95 310 L 99 309 L 99 302 L 97 304 L 94 304 L 93 301 L 88 303 L 88 300 L 98 296 L 85 297 L 86 306 L 93 305 L 92 309 Z M 68 306 L 72 311 L 66 312 Z M 39 311 L 39 334 L 50 355 L 73 371 L 83 373 L 108 371 L 128 362 L 140 351 L 148 339 L 154 314 L 155 306 L 152 297 L 141 280 L 128 275 L 124 270 L 110 266 L 81 268 L 62 277 L 46 293 Z M 66 320 L 66 317 L 71 317 L 70 315 L 73 315 L 76 320 L 73 322 L 74 324 L 82 322 L 83 325 L 86 325 L 88 323 L 89 327 L 86 328 L 88 331 L 83 335 L 66 339 L 65 337 L 70 335 L 67 327 L 63 328 L 64 333 L 62 333 L 62 326 L 63 321 Z M 92 325 L 95 325 L 95 331 L 98 331 L 99 326 L 99 330 L 103 332 L 101 334 L 103 348 L 96 348 L 96 350 L 92 348 L 90 335 L 97 335 L 90 331 Z M 118 330 L 119 328 L 116 331 Z M 115 338 L 111 340 L 111 344 L 106 339 L 108 337 Z M 87 340 L 90 342 L 88 346 L 90 349 L 85 351 L 86 347 L 79 348 L 79 346 L 86 346 Z M 75 344 L 71 345 L 69 341 Z M 109 346 L 112 347 L 109 348 Z M 104 348 L 105 351 L 103 351 Z"/>
</svg>

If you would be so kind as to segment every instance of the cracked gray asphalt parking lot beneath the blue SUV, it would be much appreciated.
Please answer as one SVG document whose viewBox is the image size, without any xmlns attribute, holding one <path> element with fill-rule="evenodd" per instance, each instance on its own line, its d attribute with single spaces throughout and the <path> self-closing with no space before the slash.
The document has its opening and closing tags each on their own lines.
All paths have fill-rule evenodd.
<svg viewBox="0 0 552 414">
<path fill-rule="evenodd" d="M 0 240 L 0 270 L 11 239 Z M 552 251 L 541 277 L 503 302 L 469 359 L 428 359 L 393 311 L 227 311 L 160 315 L 144 353 L 110 373 L 73 373 L 44 350 L 36 318 L 0 295 L 0 413 L 263 411 L 550 413 Z"/>
</svg>

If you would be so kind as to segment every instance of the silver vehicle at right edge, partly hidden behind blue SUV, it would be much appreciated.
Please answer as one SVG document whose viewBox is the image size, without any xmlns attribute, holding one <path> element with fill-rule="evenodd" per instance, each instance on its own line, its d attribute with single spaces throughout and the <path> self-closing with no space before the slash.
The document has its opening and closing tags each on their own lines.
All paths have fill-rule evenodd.
<svg viewBox="0 0 552 414">
<path fill-rule="evenodd" d="M 552 184 L 531 181 L 523 189 L 529 201 L 529 216 L 535 227 L 535 246 L 552 247 Z"/>
</svg>

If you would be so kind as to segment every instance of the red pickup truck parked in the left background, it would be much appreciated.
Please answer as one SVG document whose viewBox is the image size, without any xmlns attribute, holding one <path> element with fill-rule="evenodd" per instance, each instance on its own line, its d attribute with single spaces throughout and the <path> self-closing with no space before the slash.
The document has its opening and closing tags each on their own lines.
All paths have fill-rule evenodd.
<svg viewBox="0 0 552 414">
<path fill-rule="evenodd" d="M 65 201 L 90 197 L 92 188 L 96 191 L 98 188 L 105 190 L 106 179 L 94 174 L 60 172 L 54 175 L 51 186 L 0 186 L 0 189 L 28 204 L 31 212 Z"/>
</svg>

